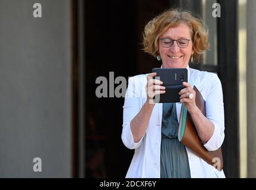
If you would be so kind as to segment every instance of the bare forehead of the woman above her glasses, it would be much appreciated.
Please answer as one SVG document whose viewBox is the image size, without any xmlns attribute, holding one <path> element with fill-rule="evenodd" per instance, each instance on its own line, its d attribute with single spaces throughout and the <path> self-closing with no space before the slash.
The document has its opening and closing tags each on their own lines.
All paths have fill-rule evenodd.
<svg viewBox="0 0 256 190">
<path fill-rule="evenodd" d="M 187 24 L 181 23 L 175 28 L 169 28 L 166 30 L 161 37 L 170 37 L 171 39 L 180 39 L 182 37 L 190 38 L 190 31 L 191 29 L 189 26 L 187 26 Z"/>
</svg>

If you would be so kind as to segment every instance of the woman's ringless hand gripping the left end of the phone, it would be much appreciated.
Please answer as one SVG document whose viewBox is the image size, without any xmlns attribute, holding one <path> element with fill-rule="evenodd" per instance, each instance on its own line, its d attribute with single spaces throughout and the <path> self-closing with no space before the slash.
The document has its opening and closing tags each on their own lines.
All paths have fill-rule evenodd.
<svg viewBox="0 0 256 190">
<path fill-rule="evenodd" d="M 152 72 L 149 75 L 147 75 L 146 93 L 147 102 L 150 104 L 154 104 L 154 96 L 165 93 L 165 87 L 162 86 L 163 82 L 161 80 L 153 79 L 153 77 L 155 76 L 156 72 Z"/>
</svg>

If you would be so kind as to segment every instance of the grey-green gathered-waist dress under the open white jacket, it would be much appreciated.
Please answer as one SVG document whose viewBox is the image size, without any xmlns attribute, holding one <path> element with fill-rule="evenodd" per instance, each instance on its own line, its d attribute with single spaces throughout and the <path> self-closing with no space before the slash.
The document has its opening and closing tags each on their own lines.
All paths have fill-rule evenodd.
<svg viewBox="0 0 256 190">
<path fill-rule="evenodd" d="M 178 141 L 175 103 L 163 103 L 161 178 L 190 178 L 186 147 Z"/>
</svg>

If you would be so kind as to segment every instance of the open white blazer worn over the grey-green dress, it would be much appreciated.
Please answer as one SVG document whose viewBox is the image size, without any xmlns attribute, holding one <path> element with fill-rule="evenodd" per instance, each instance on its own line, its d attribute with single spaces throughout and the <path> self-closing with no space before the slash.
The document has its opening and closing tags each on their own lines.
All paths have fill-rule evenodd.
<svg viewBox="0 0 256 190">
<path fill-rule="evenodd" d="M 188 69 L 188 82 L 196 85 L 205 100 L 206 118 L 214 124 L 214 134 L 204 144 L 207 150 L 217 150 L 224 140 L 223 93 L 218 76 L 211 72 Z M 135 149 L 126 178 L 160 178 L 160 150 L 162 103 L 154 106 L 146 133 L 134 143 L 130 122 L 140 112 L 147 99 L 147 74 L 129 78 L 124 103 L 122 141 L 129 149 Z M 181 104 L 176 103 L 177 118 L 180 120 Z M 191 178 L 225 178 L 223 170 L 218 171 L 186 147 Z"/>
</svg>

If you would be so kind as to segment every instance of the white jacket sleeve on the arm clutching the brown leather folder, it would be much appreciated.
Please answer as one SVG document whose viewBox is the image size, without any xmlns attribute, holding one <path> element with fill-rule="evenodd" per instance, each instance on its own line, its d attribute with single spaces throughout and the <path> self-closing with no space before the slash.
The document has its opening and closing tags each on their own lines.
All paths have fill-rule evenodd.
<svg viewBox="0 0 256 190">
<path fill-rule="evenodd" d="M 212 74 L 211 84 L 209 85 L 209 93 L 205 100 L 206 118 L 214 124 L 214 133 L 205 148 L 209 151 L 217 150 L 224 141 L 224 106 L 223 92 L 220 79 L 217 74 Z"/>
</svg>

